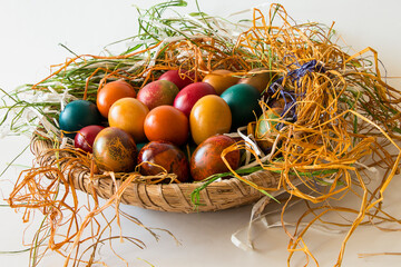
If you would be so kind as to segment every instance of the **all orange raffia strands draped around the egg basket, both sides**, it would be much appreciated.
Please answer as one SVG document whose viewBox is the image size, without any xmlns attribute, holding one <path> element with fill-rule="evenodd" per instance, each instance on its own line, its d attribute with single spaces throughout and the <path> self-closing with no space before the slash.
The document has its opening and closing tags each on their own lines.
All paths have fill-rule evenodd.
<svg viewBox="0 0 401 267">
<path fill-rule="evenodd" d="M 278 9 L 276 10 L 277 7 Z M 273 13 L 275 11 L 276 16 L 278 16 L 278 18 L 283 21 L 278 27 L 272 24 Z M 306 202 L 322 204 L 321 208 L 310 208 L 310 210 L 305 212 L 305 216 L 307 214 L 313 214 L 315 217 L 302 231 L 299 231 L 299 226 L 305 217 L 302 216 L 300 218 L 293 235 L 290 234 L 284 226 L 283 215 L 287 207 L 286 204 L 284 205 L 282 210 L 283 228 L 291 238 L 288 244 L 288 263 L 295 251 L 303 251 L 306 256 L 307 263 L 310 258 L 312 258 L 313 261 L 319 265 L 317 259 L 314 258 L 304 243 L 303 237 L 307 229 L 316 221 L 330 224 L 323 218 L 329 211 L 351 212 L 355 215 L 353 222 L 349 225 L 348 235 L 343 240 L 343 245 L 339 254 L 336 265 L 340 265 L 346 241 L 351 237 L 352 233 L 359 225 L 369 222 L 364 220 L 365 217 L 369 217 L 369 219 L 374 218 L 395 221 L 394 218 L 384 214 L 380 207 L 381 201 L 383 200 L 383 192 L 395 175 L 401 157 L 400 147 L 394 141 L 400 140 L 400 138 L 392 132 L 391 126 L 388 126 L 390 122 L 397 123 L 397 119 L 401 117 L 399 108 L 394 108 L 397 112 L 394 112 L 392 117 L 385 118 L 387 113 L 384 111 L 380 111 L 378 107 L 368 107 L 369 111 L 378 115 L 379 117 L 379 119 L 374 120 L 369 119 L 359 113 L 362 107 L 358 102 L 358 99 L 346 90 L 350 87 L 359 87 L 359 83 L 365 85 L 368 88 L 376 87 L 376 95 L 381 98 L 376 101 L 385 100 L 382 105 L 387 105 L 387 107 L 390 106 L 391 108 L 393 108 L 393 105 L 401 101 L 399 97 L 400 92 L 389 87 L 381 80 L 380 72 L 378 71 L 378 55 L 373 49 L 368 48 L 356 55 L 349 56 L 342 52 L 341 49 L 329 39 L 330 30 L 333 24 L 331 26 L 329 32 L 324 32 L 322 28 L 314 23 L 292 26 L 288 21 L 291 18 L 287 16 L 286 11 L 277 4 L 272 6 L 268 13 L 268 21 L 266 21 L 261 10 L 255 9 L 252 28 L 239 36 L 234 49 L 231 49 L 224 42 L 214 38 L 194 38 L 190 41 L 179 40 L 170 43 L 164 43 L 165 46 L 163 47 L 163 50 L 160 50 L 163 53 L 156 55 L 155 62 L 153 62 L 154 65 L 145 63 L 144 69 L 140 70 L 139 73 L 131 75 L 126 70 L 110 70 L 106 67 L 98 68 L 86 80 L 84 98 L 87 98 L 89 80 L 96 77 L 100 70 L 106 75 L 99 83 L 99 89 L 107 79 L 111 78 L 124 78 L 131 81 L 138 79 L 141 85 L 146 85 L 147 82 L 156 79 L 158 72 L 168 69 L 183 68 L 193 70 L 199 75 L 196 78 L 198 79 L 203 78 L 203 76 L 207 75 L 209 71 L 219 68 L 231 69 L 236 76 L 246 76 L 246 72 L 254 67 L 254 63 L 267 68 L 272 67 L 268 71 L 284 77 L 283 86 L 286 89 L 294 91 L 297 96 L 303 96 L 302 98 L 297 97 L 296 113 L 299 118 L 296 122 L 282 121 L 281 119 L 266 120 L 267 122 L 282 122 L 285 126 L 281 131 L 273 130 L 275 136 L 280 135 L 280 140 L 282 142 L 281 147 L 276 148 L 275 155 L 282 154 L 284 160 L 272 161 L 270 165 L 266 165 L 265 162 L 262 162 L 261 158 L 250 146 L 247 146 L 247 144 L 239 142 L 223 151 L 223 161 L 227 165 L 236 178 L 258 190 L 270 192 L 284 189 L 291 194 L 291 197 L 305 199 Z M 46 79 L 60 73 L 69 65 L 76 63 L 78 59 L 86 60 L 87 57 L 94 59 L 126 59 L 136 55 L 145 53 L 151 49 L 156 49 L 160 46 L 160 43 L 162 42 L 149 47 L 148 49 L 126 56 L 96 57 L 82 55 L 68 60 L 61 67 L 58 66 L 60 68 Z M 270 50 L 267 51 L 266 48 Z M 268 56 L 268 52 L 274 56 L 273 59 Z M 360 58 L 366 52 L 372 52 L 374 56 L 376 75 L 363 72 L 355 67 L 359 65 L 361 65 L 361 67 L 365 67 L 365 62 Z M 310 60 L 317 60 L 327 71 L 325 73 L 309 73 L 300 80 L 300 83 L 293 82 L 291 77 L 286 76 L 288 71 L 299 68 L 299 65 L 305 63 Z M 354 66 L 352 66 L 352 63 L 354 63 Z M 38 83 L 35 85 L 33 88 L 37 86 Z M 364 89 L 360 88 L 359 90 L 360 95 L 363 95 Z M 278 97 L 278 91 L 275 96 L 272 96 L 272 98 Z M 369 99 L 372 99 L 373 97 L 370 95 L 368 96 Z M 350 101 L 354 105 L 353 109 L 351 110 L 348 106 L 341 103 L 340 98 L 350 98 Z M 264 108 L 264 110 L 270 109 L 266 105 L 263 105 L 262 108 Z M 322 119 L 322 116 L 324 119 Z M 353 118 L 358 119 L 359 122 L 360 128 L 358 132 L 353 132 Z M 375 129 L 376 132 L 374 135 L 372 134 L 372 136 L 368 136 L 366 134 L 372 131 L 372 129 Z M 397 157 L 390 155 L 384 149 L 384 145 L 376 140 L 376 137 L 379 136 L 387 139 L 387 146 L 392 145 L 399 150 Z M 263 138 L 268 137 L 266 136 Z M 354 140 L 358 142 L 353 144 Z M 280 171 L 281 177 L 277 187 L 263 188 L 237 175 L 228 165 L 225 156 L 228 152 L 238 149 L 245 149 L 251 152 L 255 158 L 256 164 L 262 166 L 263 169 L 267 171 Z M 77 156 L 77 158 L 71 157 L 67 159 L 68 167 L 63 169 L 65 171 L 74 169 L 76 165 L 84 165 L 90 169 L 90 177 L 94 182 L 96 182 L 96 179 L 101 179 L 102 175 L 95 175 L 92 159 L 82 157 L 82 155 L 77 154 L 76 150 L 70 148 L 60 150 L 56 149 L 55 151 L 70 151 Z M 381 186 L 372 192 L 365 187 L 362 179 L 363 170 L 361 170 L 356 165 L 360 159 L 369 155 L 374 155 L 379 158 L 374 159 L 372 165 L 391 166 L 391 170 L 385 172 L 382 177 Z M 61 162 L 60 160 L 52 165 L 53 168 L 32 169 L 25 176 L 23 179 L 20 177 L 13 194 L 10 196 L 10 204 L 12 207 L 26 208 L 26 220 L 29 220 L 31 208 L 39 208 L 45 214 L 53 215 L 53 217 L 50 218 L 50 247 L 62 254 L 60 249 L 63 245 L 69 245 L 70 250 L 68 254 L 62 254 L 67 258 L 67 266 L 69 260 L 77 260 L 79 258 L 78 250 L 84 241 L 89 240 L 90 238 L 95 239 L 95 236 L 98 236 L 99 233 L 104 233 L 104 230 L 100 230 L 100 224 L 96 218 L 101 215 L 107 207 L 115 205 L 115 220 L 119 227 L 119 216 L 121 211 L 118 209 L 118 205 L 120 196 L 129 182 L 140 180 L 153 184 L 164 179 L 164 177 L 146 179 L 138 177 L 137 174 L 126 176 L 118 175 L 118 177 L 117 174 L 111 175 L 113 177 L 116 177 L 115 188 L 117 189 L 115 195 L 108 199 L 105 205 L 100 206 L 97 199 L 98 196 L 96 190 L 92 187 L 91 196 L 95 201 L 95 206 L 79 207 L 76 188 L 71 177 L 66 175 L 65 171 L 60 171 L 57 167 L 58 164 Z M 331 170 L 336 170 L 336 174 L 330 172 Z M 43 189 L 39 178 L 42 177 L 43 174 L 49 174 L 49 171 L 53 171 L 58 179 L 51 181 L 50 185 Z M 303 172 L 315 172 L 315 179 L 329 180 L 332 184 L 326 186 L 324 190 L 320 191 L 316 187 L 314 187 L 315 180 L 310 179 L 307 176 L 303 176 Z M 352 178 L 352 174 L 354 174 L 356 179 Z M 315 194 L 312 195 L 311 192 L 305 192 L 305 189 L 297 186 L 294 182 L 294 178 L 296 177 L 307 190 Z M 117 184 L 117 179 L 121 179 L 120 185 Z M 61 199 L 55 200 L 55 194 L 57 192 L 55 187 L 57 185 L 61 185 L 60 182 L 65 185 L 66 191 L 72 195 L 72 206 L 68 206 L 66 204 L 65 196 Z M 355 186 L 362 190 L 361 194 L 355 190 Z M 361 198 L 359 210 L 323 205 L 329 200 L 341 199 L 348 194 L 354 194 Z M 85 208 L 89 210 L 89 214 L 82 220 L 78 220 L 77 214 L 79 210 Z M 373 209 L 374 212 L 370 212 L 370 209 Z M 315 214 L 317 210 L 321 212 Z M 62 214 L 66 211 L 71 214 L 69 219 L 67 219 Z M 383 216 L 379 216 L 379 212 L 382 212 Z M 65 220 L 58 221 L 57 219 L 59 217 L 62 217 Z M 140 225 L 137 220 L 134 221 Z M 399 220 L 397 221 L 400 224 Z M 67 225 L 67 235 L 63 240 L 56 243 L 55 237 L 57 235 L 57 229 L 62 225 Z M 92 230 L 91 237 L 84 238 L 85 229 L 90 226 L 95 227 L 96 230 Z M 97 240 L 100 240 L 100 237 L 98 237 Z M 84 263 L 80 258 L 78 261 Z M 91 261 L 89 260 L 88 265 L 89 263 Z"/>
</svg>

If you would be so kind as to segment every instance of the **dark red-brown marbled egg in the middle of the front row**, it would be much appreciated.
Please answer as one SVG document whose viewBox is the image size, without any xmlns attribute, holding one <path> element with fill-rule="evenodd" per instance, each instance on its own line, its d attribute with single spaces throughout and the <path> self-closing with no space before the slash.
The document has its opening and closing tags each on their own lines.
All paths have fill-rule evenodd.
<svg viewBox="0 0 401 267">
<path fill-rule="evenodd" d="M 185 154 L 175 145 L 165 141 L 151 141 L 138 154 L 138 164 L 148 161 L 162 166 L 167 174 L 176 174 L 179 181 L 187 181 L 189 177 L 189 164 Z M 154 176 L 163 172 L 160 167 L 143 164 L 140 174 Z"/>
</svg>

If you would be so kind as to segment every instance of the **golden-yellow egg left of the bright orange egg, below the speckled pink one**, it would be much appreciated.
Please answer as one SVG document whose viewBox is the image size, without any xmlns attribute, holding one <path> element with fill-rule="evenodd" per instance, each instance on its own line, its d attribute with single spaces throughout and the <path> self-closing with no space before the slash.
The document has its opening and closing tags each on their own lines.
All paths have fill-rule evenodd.
<svg viewBox="0 0 401 267">
<path fill-rule="evenodd" d="M 134 137 L 135 142 L 146 140 L 144 122 L 149 109 L 135 98 L 121 98 L 110 108 L 110 127 L 120 128 Z"/>
</svg>

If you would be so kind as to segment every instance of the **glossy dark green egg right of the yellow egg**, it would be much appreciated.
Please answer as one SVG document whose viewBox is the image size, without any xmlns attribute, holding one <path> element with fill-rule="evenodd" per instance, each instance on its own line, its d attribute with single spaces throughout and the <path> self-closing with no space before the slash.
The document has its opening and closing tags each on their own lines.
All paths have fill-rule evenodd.
<svg viewBox="0 0 401 267">
<path fill-rule="evenodd" d="M 253 86 L 238 83 L 232 86 L 222 93 L 222 98 L 228 103 L 233 116 L 233 129 L 246 126 L 256 120 L 254 111 L 258 113 L 260 91 Z"/>
</svg>

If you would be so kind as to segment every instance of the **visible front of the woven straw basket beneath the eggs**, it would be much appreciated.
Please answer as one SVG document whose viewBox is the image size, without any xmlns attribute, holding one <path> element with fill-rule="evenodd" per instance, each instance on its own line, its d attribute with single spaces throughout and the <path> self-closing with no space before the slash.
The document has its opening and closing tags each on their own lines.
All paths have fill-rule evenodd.
<svg viewBox="0 0 401 267">
<path fill-rule="evenodd" d="M 74 169 L 67 168 L 67 160 L 62 159 L 74 157 L 74 155 L 68 151 L 59 151 L 57 155 L 52 148 L 53 144 L 50 140 L 33 137 L 31 151 L 37 157 L 38 164 L 41 167 L 50 167 L 56 160 L 59 160 L 60 169 L 72 179 L 75 188 L 88 194 L 96 191 L 98 197 L 108 199 L 116 191 L 116 186 L 118 187 L 121 184 L 120 179 L 114 182 L 111 177 L 105 177 L 104 175 L 90 177 L 90 170 L 86 166 L 75 167 Z M 47 177 L 50 179 L 56 178 L 51 172 Z M 244 176 L 244 178 L 261 187 L 274 188 L 277 187 L 280 175 L 261 170 Z M 264 196 L 237 178 L 228 178 L 214 181 L 200 190 L 199 205 L 196 207 L 190 200 L 190 194 L 202 185 L 203 182 L 158 185 L 131 182 L 124 191 L 120 200 L 123 204 L 146 209 L 189 214 L 239 207 L 256 202 Z"/>
</svg>

